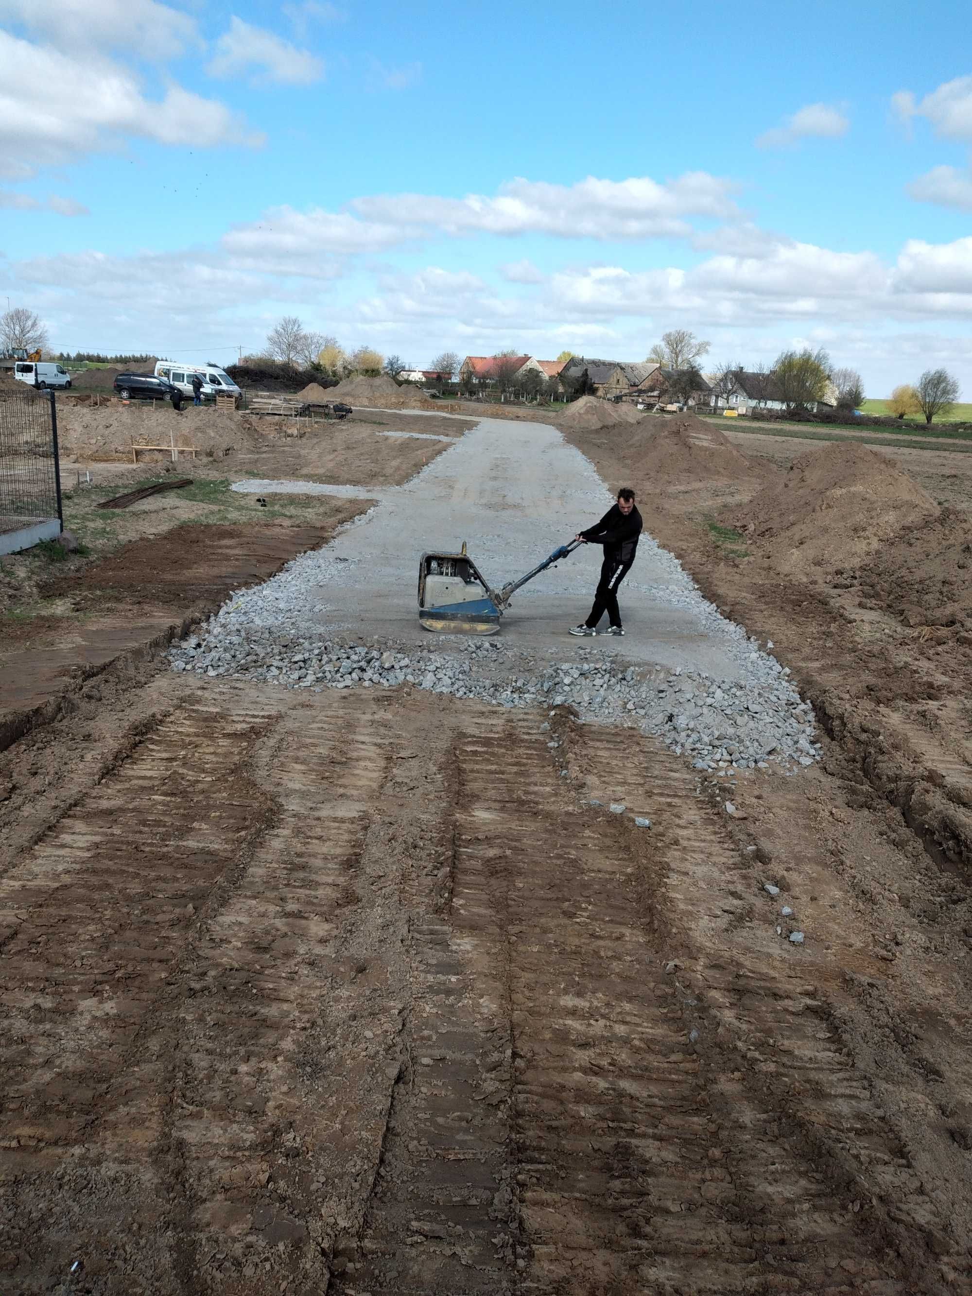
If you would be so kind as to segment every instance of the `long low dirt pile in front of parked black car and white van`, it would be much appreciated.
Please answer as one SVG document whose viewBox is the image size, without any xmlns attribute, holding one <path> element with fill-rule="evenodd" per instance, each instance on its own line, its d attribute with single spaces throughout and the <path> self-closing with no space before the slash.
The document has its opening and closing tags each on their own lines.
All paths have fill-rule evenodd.
<svg viewBox="0 0 972 1296">
<path fill-rule="evenodd" d="M 210 456 L 266 443 L 259 422 L 250 415 L 205 406 L 191 406 L 181 413 L 168 406 L 154 411 L 123 404 L 62 406 L 57 432 L 61 457 L 88 463 L 131 461 L 132 441 L 152 446 L 175 441 L 176 446 L 196 447 Z"/>
</svg>

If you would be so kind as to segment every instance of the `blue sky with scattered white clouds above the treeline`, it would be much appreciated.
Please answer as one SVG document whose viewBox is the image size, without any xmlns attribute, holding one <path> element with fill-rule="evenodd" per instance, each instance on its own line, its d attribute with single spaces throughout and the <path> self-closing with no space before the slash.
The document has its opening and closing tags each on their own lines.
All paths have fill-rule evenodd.
<svg viewBox="0 0 972 1296">
<path fill-rule="evenodd" d="M 54 350 L 704 368 L 972 399 L 964 5 L 0 0 L 0 311 Z"/>
</svg>

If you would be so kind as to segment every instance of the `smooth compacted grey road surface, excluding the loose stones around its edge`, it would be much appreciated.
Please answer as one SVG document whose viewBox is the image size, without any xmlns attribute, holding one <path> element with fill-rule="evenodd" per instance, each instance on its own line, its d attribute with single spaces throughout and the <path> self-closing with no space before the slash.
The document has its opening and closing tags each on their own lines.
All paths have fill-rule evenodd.
<svg viewBox="0 0 972 1296">
<path fill-rule="evenodd" d="M 415 413 L 416 424 L 421 417 Z M 240 482 L 237 489 L 263 492 L 273 485 Z M 347 490 L 276 485 L 328 494 Z M 376 496 L 378 504 L 325 550 L 305 555 L 268 586 L 244 594 L 242 621 L 248 610 L 258 612 L 248 609 L 251 600 L 286 605 L 288 612 L 297 600 L 305 605 L 307 629 L 428 640 L 432 636 L 417 619 L 422 552 L 457 552 L 465 540 L 486 579 L 500 586 L 595 522 L 614 498 L 556 428 L 499 419 L 483 419 L 404 486 L 354 490 Z M 516 594 L 502 622 L 508 645 L 546 651 L 590 643 L 568 639 L 566 632 L 590 612 L 601 559 L 600 546 L 581 548 Z M 648 535 L 619 603 L 626 635 L 595 640 L 599 647 L 610 645 L 632 661 L 697 669 L 722 679 L 745 673 L 750 645 L 740 627 L 724 621 Z"/>
</svg>

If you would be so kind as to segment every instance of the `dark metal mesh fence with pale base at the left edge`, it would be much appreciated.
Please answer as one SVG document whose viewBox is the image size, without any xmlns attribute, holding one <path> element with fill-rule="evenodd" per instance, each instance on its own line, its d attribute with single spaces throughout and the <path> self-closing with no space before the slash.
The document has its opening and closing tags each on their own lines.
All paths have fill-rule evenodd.
<svg viewBox="0 0 972 1296">
<path fill-rule="evenodd" d="M 54 393 L 0 388 L 0 553 L 62 530 Z"/>
</svg>

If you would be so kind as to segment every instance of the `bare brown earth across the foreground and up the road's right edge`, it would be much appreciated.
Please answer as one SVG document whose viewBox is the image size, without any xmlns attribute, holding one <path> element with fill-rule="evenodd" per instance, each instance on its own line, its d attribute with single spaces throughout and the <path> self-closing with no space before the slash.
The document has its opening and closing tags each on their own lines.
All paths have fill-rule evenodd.
<svg viewBox="0 0 972 1296">
<path fill-rule="evenodd" d="M 942 656 L 730 557 L 704 515 L 757 470 L 669 489 L 577 442 L 771 629 L 823 765 L 737 780 L 730 818 L 682 758 L 568 709 L 131 654 L 79 682 L 0 754 L 0 1290 L 972 1292 L 972 897 L 941 731 L 898 804 L 910 699 L 955 702 L 956 634 Z M 174 608 L 157 544 L 70 597 Z"/>
</svg>

